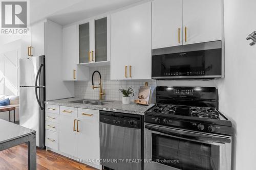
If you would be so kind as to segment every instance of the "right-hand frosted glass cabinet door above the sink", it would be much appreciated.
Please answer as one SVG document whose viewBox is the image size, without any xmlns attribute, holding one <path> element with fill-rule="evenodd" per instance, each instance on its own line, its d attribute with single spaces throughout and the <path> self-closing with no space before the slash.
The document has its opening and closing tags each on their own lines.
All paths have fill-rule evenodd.
<svg viewBox="0 0 256 170">
<path fill-rule="evenodd" d="M 106 17 L 97 19 L 95 25 L 95 62 L 107 60 Z"/>
</svg>

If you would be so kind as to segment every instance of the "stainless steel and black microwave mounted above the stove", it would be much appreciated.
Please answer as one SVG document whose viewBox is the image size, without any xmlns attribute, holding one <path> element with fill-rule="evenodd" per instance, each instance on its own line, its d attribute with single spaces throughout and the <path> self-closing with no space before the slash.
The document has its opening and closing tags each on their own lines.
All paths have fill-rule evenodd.
<svg viewBox="0 0 256 170">
<path fill-rule="evenodd" d="M 152 51 L 152 79 L 224 77 L 222 41 L 158 48 Z"/>
</svg>

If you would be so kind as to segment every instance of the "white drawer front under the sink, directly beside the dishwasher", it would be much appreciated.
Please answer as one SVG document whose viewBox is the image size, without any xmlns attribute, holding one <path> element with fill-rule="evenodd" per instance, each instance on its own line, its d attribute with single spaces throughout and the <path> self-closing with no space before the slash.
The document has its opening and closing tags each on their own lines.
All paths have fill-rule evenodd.
<svg viewBox="0 0 256 170">
<path fill-rule="evenodd" d="M 92 121 L 99 122 L 99 111 L 78 108 L 78 118 L 91 119 Z"/>
</svg>

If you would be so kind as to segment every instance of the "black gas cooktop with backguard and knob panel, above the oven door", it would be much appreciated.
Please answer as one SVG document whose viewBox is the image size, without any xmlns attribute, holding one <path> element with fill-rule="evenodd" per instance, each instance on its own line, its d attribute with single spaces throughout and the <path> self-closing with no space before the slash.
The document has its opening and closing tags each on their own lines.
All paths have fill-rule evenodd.
<svg viewBox="0 0 256 170">
<path fill-rule="evenodd" d="M 215 87 L 156 88 L 156 105 L 145 113 L 145 123 L 231 135 L 231 122 L 218 111 Z"/>
</svg>

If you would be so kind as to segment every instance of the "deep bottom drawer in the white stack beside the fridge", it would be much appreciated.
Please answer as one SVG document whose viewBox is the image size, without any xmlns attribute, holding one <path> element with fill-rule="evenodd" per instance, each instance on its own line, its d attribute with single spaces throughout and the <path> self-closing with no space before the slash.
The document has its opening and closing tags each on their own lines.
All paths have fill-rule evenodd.
<svg viewBox="0 0 256 170">
<path fill-rule="evenodd" d="M 59 134 L 57 132 L 46 130 L 46 146 L 57 151 L 59 150 Z"/>
</svg>

